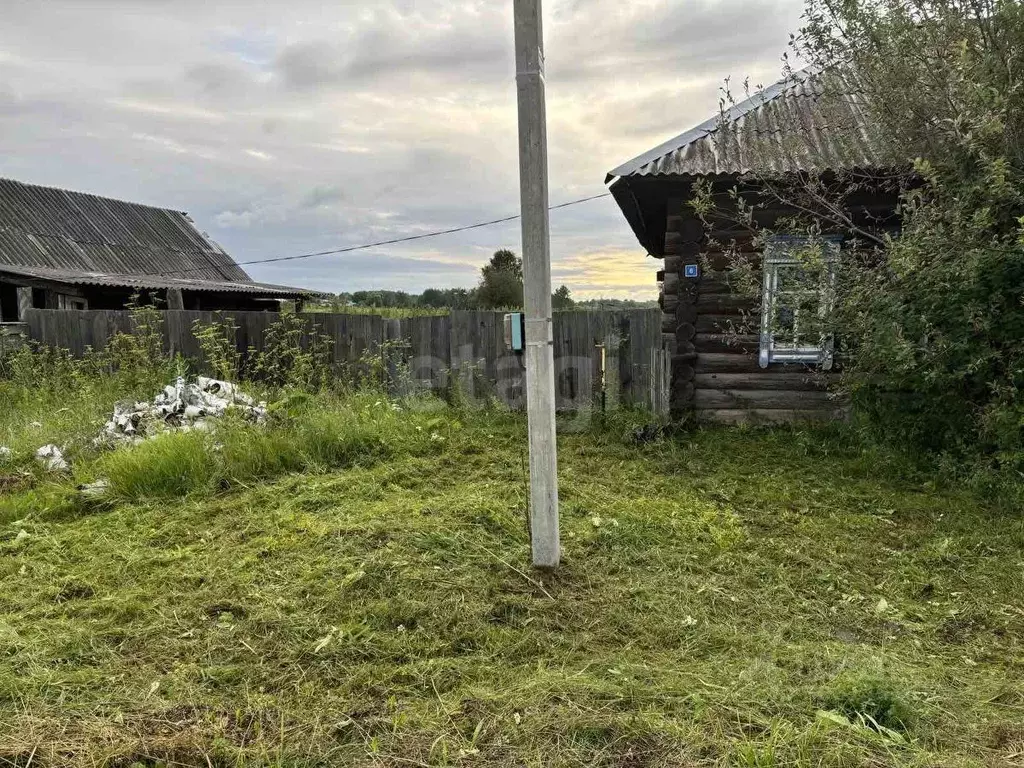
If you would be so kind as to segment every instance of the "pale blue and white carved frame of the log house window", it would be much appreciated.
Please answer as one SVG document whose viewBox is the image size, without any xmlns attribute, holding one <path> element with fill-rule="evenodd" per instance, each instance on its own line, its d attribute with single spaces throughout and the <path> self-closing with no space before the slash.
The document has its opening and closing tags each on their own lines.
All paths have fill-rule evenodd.
<svg viewBox="0 0 1024 768">
<path fill-rule="evenodd" d="M 793 255 L 794 251 L 815 242 L 821 243 L 825 249 L 826 270 L 822 276 L 821 285 L 818 287 L 820 292 L 818 315 L 823 319 L 831 312 L 835 304 L 836 267 L 839 262 L 840 239 L 814 240 L 811 238 L 776 237 L 769 241 L 765 249 L 762 264 L 764 282 L 761 294 L 761 349 L 758 354 L 758 365 L 761 368 L 768 368 L 773 362 L 808 362 L 817 365 L 822 371 L 831 370 L 835 360 L 835 339 L 831 334 L 822 334 L 816 345 L 797 346 L 776 341 L 775 332 L 771 328 L 772 316 L 776 309 L 779 272 L 782 269 L 799 267 L 800 258 Z M 797 323 L 799 323 L 799 312 L 795 317 L 795 325 Z"/>
</svg>

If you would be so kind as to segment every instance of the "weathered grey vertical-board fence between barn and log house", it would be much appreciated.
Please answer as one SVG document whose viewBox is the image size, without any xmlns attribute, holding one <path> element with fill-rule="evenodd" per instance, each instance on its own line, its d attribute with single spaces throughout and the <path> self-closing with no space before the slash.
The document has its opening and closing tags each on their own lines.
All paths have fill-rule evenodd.
<svg viewBox="0 0 1024 768">
<path fill-rule="evenodd" d="M 263 349 L 275 312 L 165 311 L 165 349 L 201 360 L 194 324 L 230 318 L 245 355 Z M 393 373 L 435 391 L 459 376 L 470 395 L 496 396 L 513 408 L 524 397 L 521 354 L 505 343 L 504 312 L 453 311 L 446 315 L 389 319 L 374 314 L 307 312 L 299 315 L 313 333 L 333 341 L 336 364 L 358 364 L 384 354 Z M 29 338 L 76 356 L 102 349 L 116 333 L 131 333 L 125 310 L 31 309 Z M 658 415 L 669 412 L 670 355 L 657 309 L 566 311 L 554 314 L 556 395 L 560 410 L 631 403 Z"/>
</svg>

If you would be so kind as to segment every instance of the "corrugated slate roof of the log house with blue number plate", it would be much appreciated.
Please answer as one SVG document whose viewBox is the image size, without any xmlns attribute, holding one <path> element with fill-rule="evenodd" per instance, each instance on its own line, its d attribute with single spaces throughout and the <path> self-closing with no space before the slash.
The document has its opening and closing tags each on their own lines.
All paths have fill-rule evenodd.
<svg viewBox="0 0 1024 768">
<path fill-rule="evenodd" d="M 855 79 L 807 69 L 608 173 L 703 176 L 785 173 L 887 165 Z"/>
</svg>

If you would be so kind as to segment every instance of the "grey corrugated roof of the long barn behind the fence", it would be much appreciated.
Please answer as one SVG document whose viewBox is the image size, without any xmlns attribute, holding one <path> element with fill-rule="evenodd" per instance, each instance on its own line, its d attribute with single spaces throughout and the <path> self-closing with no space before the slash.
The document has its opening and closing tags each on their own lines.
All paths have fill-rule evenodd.
<svg viewBox="0 0 1024 768">
<path fill-rule="evenodd" d="M 0 271 L 88 285 L 314 293 L 254 283 L 180 211 L 3 178 Z"/>
</svg>

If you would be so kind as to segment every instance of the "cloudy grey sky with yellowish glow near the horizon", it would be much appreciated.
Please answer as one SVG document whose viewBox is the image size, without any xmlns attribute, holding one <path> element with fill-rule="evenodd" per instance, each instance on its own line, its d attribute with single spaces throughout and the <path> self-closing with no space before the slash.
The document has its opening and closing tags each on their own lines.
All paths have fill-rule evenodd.
<svg viewBox="0 0 1024 768">
<path fill-rule="evenodd" d="M 511 0 L 0 0 L 0 176 L 187 211 L 238 261 L 518 212 Z M 778 79 L 802 0 L 545 0 L 550 198 Z M 610 198 L 553 211 L 552 279 L 651 299 Z M 330 292 L 472 287 L 519 223 L 246 267 Z"/>
</svg>

